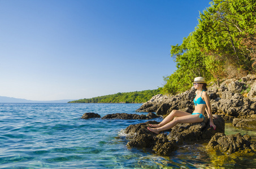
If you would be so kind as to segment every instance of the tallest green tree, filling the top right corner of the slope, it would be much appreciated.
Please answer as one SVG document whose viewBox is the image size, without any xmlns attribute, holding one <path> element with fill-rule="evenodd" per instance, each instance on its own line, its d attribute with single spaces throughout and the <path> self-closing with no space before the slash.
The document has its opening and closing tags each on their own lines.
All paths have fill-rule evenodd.
<svg viewBox="0 0 256 169">
<path fill-rule="evenodd" d="M 212 1 L 211 7 L 200 13 L 194 33 L 198 47 L 206 55 L 217 56 L 228 72 L 232 67 L 237 73 L 252 71 L 250 49 L 241 42 L 245 34 L 255 33 L 255 5 L 248 0 Z"/>
</svg>

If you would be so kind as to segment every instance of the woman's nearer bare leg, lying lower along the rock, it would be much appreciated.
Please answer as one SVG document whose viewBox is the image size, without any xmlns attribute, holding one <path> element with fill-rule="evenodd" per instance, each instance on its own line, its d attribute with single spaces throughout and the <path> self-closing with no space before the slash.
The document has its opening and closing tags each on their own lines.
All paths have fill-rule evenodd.
<svg viewBox="0 0 256 169">
<path fill-rule="evenodd" d="M 184 115 L 182 117 L 176 117 L 175 119 L 164 124 L 161 127 L 157 127 L 157 128 L 147 127 L 147 129 L 154 132 L 155 134 L 159 134 L 159 132 L 161 131 L 168 130 L 174 127 L 177 123 L 199 123 L 202 121 L 203 121 L 203 118 L 199 118 L 199 114 L 194 114 L 194 115 L 190 114 L 190 115 Z"/>
</svg>

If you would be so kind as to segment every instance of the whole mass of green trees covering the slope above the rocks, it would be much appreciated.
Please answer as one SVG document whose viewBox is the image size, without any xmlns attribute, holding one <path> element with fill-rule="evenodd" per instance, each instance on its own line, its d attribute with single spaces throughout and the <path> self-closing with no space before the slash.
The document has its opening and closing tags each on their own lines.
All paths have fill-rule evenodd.
<svg viewBox="0 0 256 169">
<path fill-rule="evenodd" d="M 256 70 L 256 1 L 211 1 L 181 45 L 171 46 L 176 71 L 164 77 L 161 92 L 175 95 L 192 87 L 194 77 L 219 84 Z"/>
</svg>

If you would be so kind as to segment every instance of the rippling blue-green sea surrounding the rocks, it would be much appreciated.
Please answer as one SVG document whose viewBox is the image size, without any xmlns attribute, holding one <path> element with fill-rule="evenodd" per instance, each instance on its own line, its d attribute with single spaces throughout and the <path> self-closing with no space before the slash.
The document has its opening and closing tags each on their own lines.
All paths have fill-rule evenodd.
<svg viewBox="0 0 256 169">
<path fill-rule="evenodd" d="M 0 168 L 256 168 L 255 153 L 222 153 L 207 142 L 181 145 L 168 157 L 128 148 L 124 129 L 146 120 L 81 119 L 137 113 L 142 104 L 0 103 Z M 162 118 L 154 119 L 162 121 Z M 255 130 L 225 125 L 225 134 Z"/>
</svg>

